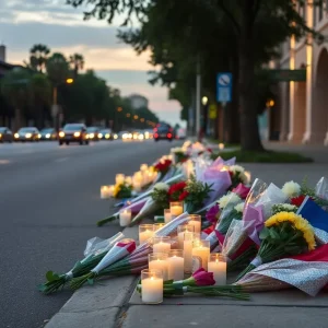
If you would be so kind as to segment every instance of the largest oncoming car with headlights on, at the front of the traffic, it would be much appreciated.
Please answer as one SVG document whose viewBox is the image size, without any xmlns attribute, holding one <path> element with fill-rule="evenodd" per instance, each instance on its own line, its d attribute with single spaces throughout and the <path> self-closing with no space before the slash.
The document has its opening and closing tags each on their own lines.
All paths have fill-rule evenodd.
<svg viewBox="0 0 328 328">
<path fill-rule="evenodd" d="M 89 144 L 89 136 L 86 127 L 83 124 L 67 124 L 58 133 L 59 145 L 70 142 L 79 142 L 80 144 Z"/>
</svg>

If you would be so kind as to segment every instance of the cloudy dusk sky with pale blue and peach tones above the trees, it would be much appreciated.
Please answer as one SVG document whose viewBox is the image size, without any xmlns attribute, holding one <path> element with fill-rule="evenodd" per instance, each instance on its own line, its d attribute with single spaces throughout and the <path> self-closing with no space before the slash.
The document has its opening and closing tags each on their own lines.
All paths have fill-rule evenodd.
<svg viewBox="0 0 328 328">
<path fill-rule="evenodd" d="M 85 9 L 85 8 L 84 8 Z M 116 33 L 121 17 L 113 25 L 104 21 L 83 21 L 83 8 L 74 9 L 66 0 L 0 0 L 0 44 L 7 46 L 7 61 L 22 63 L 34 44 L 45 44 L 52 52 L 82 54 L 85 69 L 94 69 L 108 85 L 124 96 L 144 95 L 150 109 L 160 119 L 180 122 L 180 106 L 167 99 L 167 89 L 148 83 L 149 52 L 137 56 L 120 43 Z"/>
</svg>

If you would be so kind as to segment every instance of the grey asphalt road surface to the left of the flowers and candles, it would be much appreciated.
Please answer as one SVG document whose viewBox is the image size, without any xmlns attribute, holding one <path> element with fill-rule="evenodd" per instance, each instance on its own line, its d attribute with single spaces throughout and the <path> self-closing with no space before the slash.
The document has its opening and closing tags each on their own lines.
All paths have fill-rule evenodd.
<svg viewBox="0 0 328 328">
<path fill-rule="evenodd" d="M 0 144 L 0 327 L 38 328 L 70 297 L 42 295 L 45 272 L 66 272 L 86 239 L 120 231 L 95 222 L 113 212 L 99 186 L 132 174 L 176 142 Z"/>
</svg>

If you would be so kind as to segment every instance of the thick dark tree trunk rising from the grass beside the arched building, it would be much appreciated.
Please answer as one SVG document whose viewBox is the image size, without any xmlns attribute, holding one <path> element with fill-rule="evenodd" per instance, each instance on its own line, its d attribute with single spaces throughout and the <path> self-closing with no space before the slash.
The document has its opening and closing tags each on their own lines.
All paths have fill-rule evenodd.
<svg viewBox="0 0 328 328">
<path fill-rule="evenodd" d="M 244 1 L 242 7 L 238 51 L 241 145 L 244 151 L 263 151 L 255 106 L 253 5 L 249 5 L 248 1 Z"/>
</svg>

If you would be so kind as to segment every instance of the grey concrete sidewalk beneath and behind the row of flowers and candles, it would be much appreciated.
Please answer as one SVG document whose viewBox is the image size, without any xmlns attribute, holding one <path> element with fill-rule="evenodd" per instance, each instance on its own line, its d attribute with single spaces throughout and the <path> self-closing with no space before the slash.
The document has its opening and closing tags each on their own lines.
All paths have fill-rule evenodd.
<svg viewBox="0 0 328 328">
<path fill-rule="evenodd" d="M 269 145 L 273 147 L 277 145 Z M 324 150 L 303 150 L 318 159 L 311 164 L 238 164 L 250 171 L 254 178 L 272 181 L 280 187 L 285 180 L 300 181 L 304 176 L 313 186 L 323 175 L 328 175 L 328 150 L 325 153 Z M 127 229 L 124 233 L 137 237 L 138 227 Z M 298 290 L 253 293 L 250 301 L 187 296 L 165 298 L 163 304 L 151 306 L 141 304 L 139 294 L 134 292 L 138 279 L 114 278 L 96 286 L 81 289 L 46 328 L 328 327 L 328 293 L 316 297 Z"/>
</svg>

